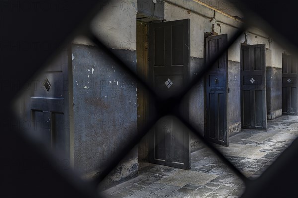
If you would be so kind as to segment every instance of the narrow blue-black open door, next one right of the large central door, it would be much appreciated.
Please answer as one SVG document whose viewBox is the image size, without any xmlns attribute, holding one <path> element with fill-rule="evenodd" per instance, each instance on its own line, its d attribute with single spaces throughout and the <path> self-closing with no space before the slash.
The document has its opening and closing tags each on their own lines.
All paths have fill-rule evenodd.
<svg viewBox="0 0 298 198">
<path fill-rule="evenodd" d="M 210 36 L 205 41 L 205 62 L 208 63 L 227 43 L 227 34 Z M 228 146 L 227 130 L 227 51 L 206 73 L 206 106 L 204 137 Z"/>
</svg>

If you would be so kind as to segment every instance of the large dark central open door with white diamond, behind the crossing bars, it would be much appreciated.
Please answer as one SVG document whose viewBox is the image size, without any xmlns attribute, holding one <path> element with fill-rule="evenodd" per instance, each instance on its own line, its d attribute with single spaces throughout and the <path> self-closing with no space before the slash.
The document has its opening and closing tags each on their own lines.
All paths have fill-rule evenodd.
<svg viewBox="0 0 298 198">
<path fill-rule="evenodd" d="M 149 25 L 149 81 L 165 98 L 188 83 L 190 64 L 190 20 Z M 188 117 L 188 103 L 184 103 Z M 190 169 L 189 132 L 172 116 L 161 118 L 150 138 L 151 163 Z"/>
</svg>

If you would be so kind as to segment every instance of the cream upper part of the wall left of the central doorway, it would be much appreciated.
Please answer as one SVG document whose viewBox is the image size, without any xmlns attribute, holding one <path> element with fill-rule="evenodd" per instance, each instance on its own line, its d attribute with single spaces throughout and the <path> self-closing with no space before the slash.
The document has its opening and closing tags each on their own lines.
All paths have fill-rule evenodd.
<svg viewBox="0 0 298 198">
<path fill-rule="evenodd" d="M 108 47 L 136 50 L 137 1 L 111 0 L 91 22 L 92 32 Z"/>
</svg>

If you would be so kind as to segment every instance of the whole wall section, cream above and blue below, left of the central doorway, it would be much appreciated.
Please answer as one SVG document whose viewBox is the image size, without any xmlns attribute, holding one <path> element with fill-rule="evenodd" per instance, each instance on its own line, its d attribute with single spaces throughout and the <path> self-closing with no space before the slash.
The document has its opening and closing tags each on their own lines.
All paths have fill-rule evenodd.
<svg viewBox="0 0 298 198">
<path fill-rule="evenodd" d="M 136 5 L 107 3 L 91 23 L 93 33 L 136 70 Z M 123 149 L 137 130 L 137 88 L 116 62 L 84 37 L 72 44 L 74 87 L 74 168 L 89 177 Z M 138 175 L 134 148 L 107 179 L 116 185 Z M 129 171 L 128 171 L 129 170 Z"/>
</svg>

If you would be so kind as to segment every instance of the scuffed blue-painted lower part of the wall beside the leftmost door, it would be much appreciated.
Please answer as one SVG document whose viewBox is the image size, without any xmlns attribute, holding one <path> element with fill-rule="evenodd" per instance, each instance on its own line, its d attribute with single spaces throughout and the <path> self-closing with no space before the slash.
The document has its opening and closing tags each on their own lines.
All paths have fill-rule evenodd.
<svg viewBox="0 0 298 198">
<path fill-rule="evenodd" d="M 135 62 L 135 52 L 114 50 Z M 100 172 L 137 128 L 136 85 L 96 47 L 73 44 L 72 57 L 74 167 L 83 174 Z M 127 160 L 134 158 L 136 149 Z"/>
</svg>

